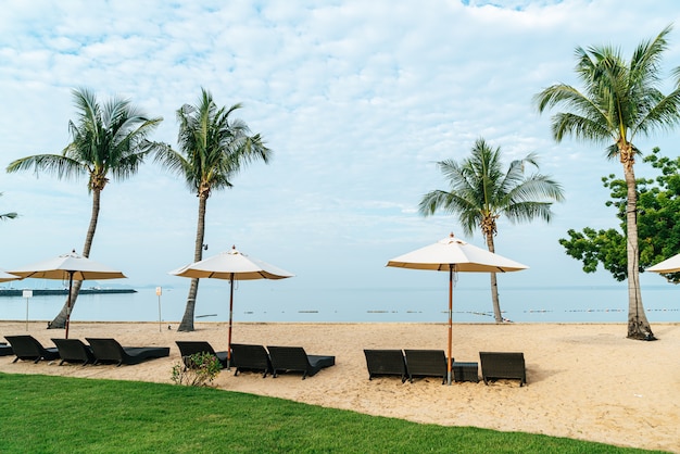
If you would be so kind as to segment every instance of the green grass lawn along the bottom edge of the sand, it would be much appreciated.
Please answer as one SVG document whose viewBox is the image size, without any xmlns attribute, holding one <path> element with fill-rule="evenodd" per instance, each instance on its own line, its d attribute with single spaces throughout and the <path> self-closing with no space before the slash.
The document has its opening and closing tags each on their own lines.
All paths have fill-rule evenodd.
<svg viewBox="0 0 680 454">
<path fill-rule="evenodd" d="M 632 453 L 134 381 L 0 374 L 0 453 Z"/>
</svg>

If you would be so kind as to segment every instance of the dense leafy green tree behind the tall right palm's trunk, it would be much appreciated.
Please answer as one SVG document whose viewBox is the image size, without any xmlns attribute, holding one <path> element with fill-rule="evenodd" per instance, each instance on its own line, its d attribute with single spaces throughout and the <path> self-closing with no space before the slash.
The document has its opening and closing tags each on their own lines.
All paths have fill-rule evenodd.
<svg viewBox="0 0 680 454">
<path fill-rule="evenodd" d="M 680 251 L 680 157 L 659 157 L 658 149 L 644 157 L 659 169 L 655 179 L 638 179 L 638 235 L 640 244 L 639 270 L 666 260 Z M 607 206 L 615 206 L 620 220 L 620 229 L 595 230 L 590 227 L 582 231 L 569 229 L 569 239 L 559 243 L 566 253 L 583 263 L 585 273 L 594 273 L 601 264 L 612 276 L 622 281 L 628 277 L 626 254 L 626 181 L 614 175 L 604 177 L 605 188 L 610 190 L 612 200 Z M 664 275 L 669 282 L 679 283 L 680 273 Z"/>
</svg>

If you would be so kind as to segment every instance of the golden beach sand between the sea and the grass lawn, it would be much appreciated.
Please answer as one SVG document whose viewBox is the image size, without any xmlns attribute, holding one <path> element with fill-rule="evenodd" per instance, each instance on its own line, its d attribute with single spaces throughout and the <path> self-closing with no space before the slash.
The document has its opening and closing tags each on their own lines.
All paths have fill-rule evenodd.
<svg viewBox="0 0 680 454">
<path fill-rule="evenodd" d="M 0 336 L 30 333 L 45 346 L 63 330 L 45 321 L 0 321 Z M 124 345 L 171 346 L 169 358 L 139 365 L 78 366 L 0 357 L 0 371 L 169 383 L 179 361 L 176 340 L 206 340 L 226 350 L 227 325 L 72 323 L 70 338 L 112 337 Z M 475 426 L 599 441 L 680 453 L 680 324 L 653 324 L 656 342 L 626 339 L 622 324 L 458 324 L 453 356 L 479 362 L 480 351 L 524 352 L 526 387 L 517 380 L 489 386 L 442 386 L 436 378 L 402 383 L 396 377 L 368 380 L 363 349 L 445 350 L 444 324 L 237 323 L 232 342 L 300 345 L 308 354 L 335 355 L 336 366 L 305 380 L 287 374 L 263 379 L 223 370 L 215 386 L 326 407 L 443 426 Z M 481 375 L 481 370 L 480 370 Z"/>
</svg>

